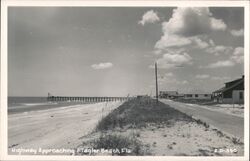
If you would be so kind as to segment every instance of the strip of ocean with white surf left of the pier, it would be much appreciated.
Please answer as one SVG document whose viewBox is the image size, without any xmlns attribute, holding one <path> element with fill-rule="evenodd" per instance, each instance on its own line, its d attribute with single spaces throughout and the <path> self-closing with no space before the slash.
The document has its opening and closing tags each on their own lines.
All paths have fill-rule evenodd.
<svg viewBox="0 0 250 161">
<path fill-rule="evenodd" d="M 46 110 L 82 104 L 81 102 L 48 102 L 47 97 L 8 97 L 8 114 Z"/>
</svg>

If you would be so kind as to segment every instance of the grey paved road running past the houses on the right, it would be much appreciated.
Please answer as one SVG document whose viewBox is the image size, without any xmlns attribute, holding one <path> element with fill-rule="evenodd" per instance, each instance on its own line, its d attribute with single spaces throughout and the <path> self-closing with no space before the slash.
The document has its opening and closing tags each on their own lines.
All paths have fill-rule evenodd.
<svg viewBox="0 0 250 161">
<path fill-rule="evenodd" d="M 165 99 L 162 99 L 161 102 L 190 116 L 192 115 L 226 133 L 244 139 L 244 118 L 242 117 L 210 110 L 201 105 L 190 105 Z"/>
</svg>

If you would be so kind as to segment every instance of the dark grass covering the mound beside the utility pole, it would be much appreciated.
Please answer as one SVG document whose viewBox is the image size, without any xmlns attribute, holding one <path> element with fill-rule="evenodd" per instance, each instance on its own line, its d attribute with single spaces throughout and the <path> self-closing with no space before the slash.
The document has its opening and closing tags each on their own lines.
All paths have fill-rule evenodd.
<svg viewBox="0 0 250 161">
<path fill-rule="evenodd" d="M 162 102 L 156 104 L 155 100 L 150 98 L 134 99 L 125 102 L 103 118 L 96 130 L 112 130 L 125 126 L 138 128 L 145 127 L 147 123 L 169 124 L 170 120 L 191 121 L 192 118 Z"/>
</svg>

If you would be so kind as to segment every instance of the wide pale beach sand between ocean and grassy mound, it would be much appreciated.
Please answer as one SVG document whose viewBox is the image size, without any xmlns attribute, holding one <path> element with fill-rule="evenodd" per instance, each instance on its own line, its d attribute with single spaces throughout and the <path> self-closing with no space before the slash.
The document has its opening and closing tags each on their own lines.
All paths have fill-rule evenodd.
<svg viewBox="0 0 250 161">
<path fill-rule="evenodd" d="M 8 116 L 9 154 L 16 149 L 75 148 L 101 118 L 123 102 L 58 107 Z M 23 153 L 27 154 L 27 153 Z M 30 154 L 30 153 L 28 153 Z"/>
</svg>

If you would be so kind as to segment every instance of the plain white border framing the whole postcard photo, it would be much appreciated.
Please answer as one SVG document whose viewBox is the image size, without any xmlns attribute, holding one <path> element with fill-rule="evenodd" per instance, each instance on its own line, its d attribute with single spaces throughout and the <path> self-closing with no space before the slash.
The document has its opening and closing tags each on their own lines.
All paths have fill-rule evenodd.
<svg viewBox="0 0 250 161">
<path fill-rule="evenodd" d="M 244 73 L 245 73 L 245 133 L 243 157 L 184 157 L 184 156 L 25 156 L 7 154 L 7 7 L 8 6 L 82 6 L 82 7 L 245 7 L 244 26 Z M 14 1 L 1 2 L 1 108 L 0 108 L 0 160 L 208 160 L 247 161 L 249 160 L 249 2 L 248 1 Z"/>
</svg>

